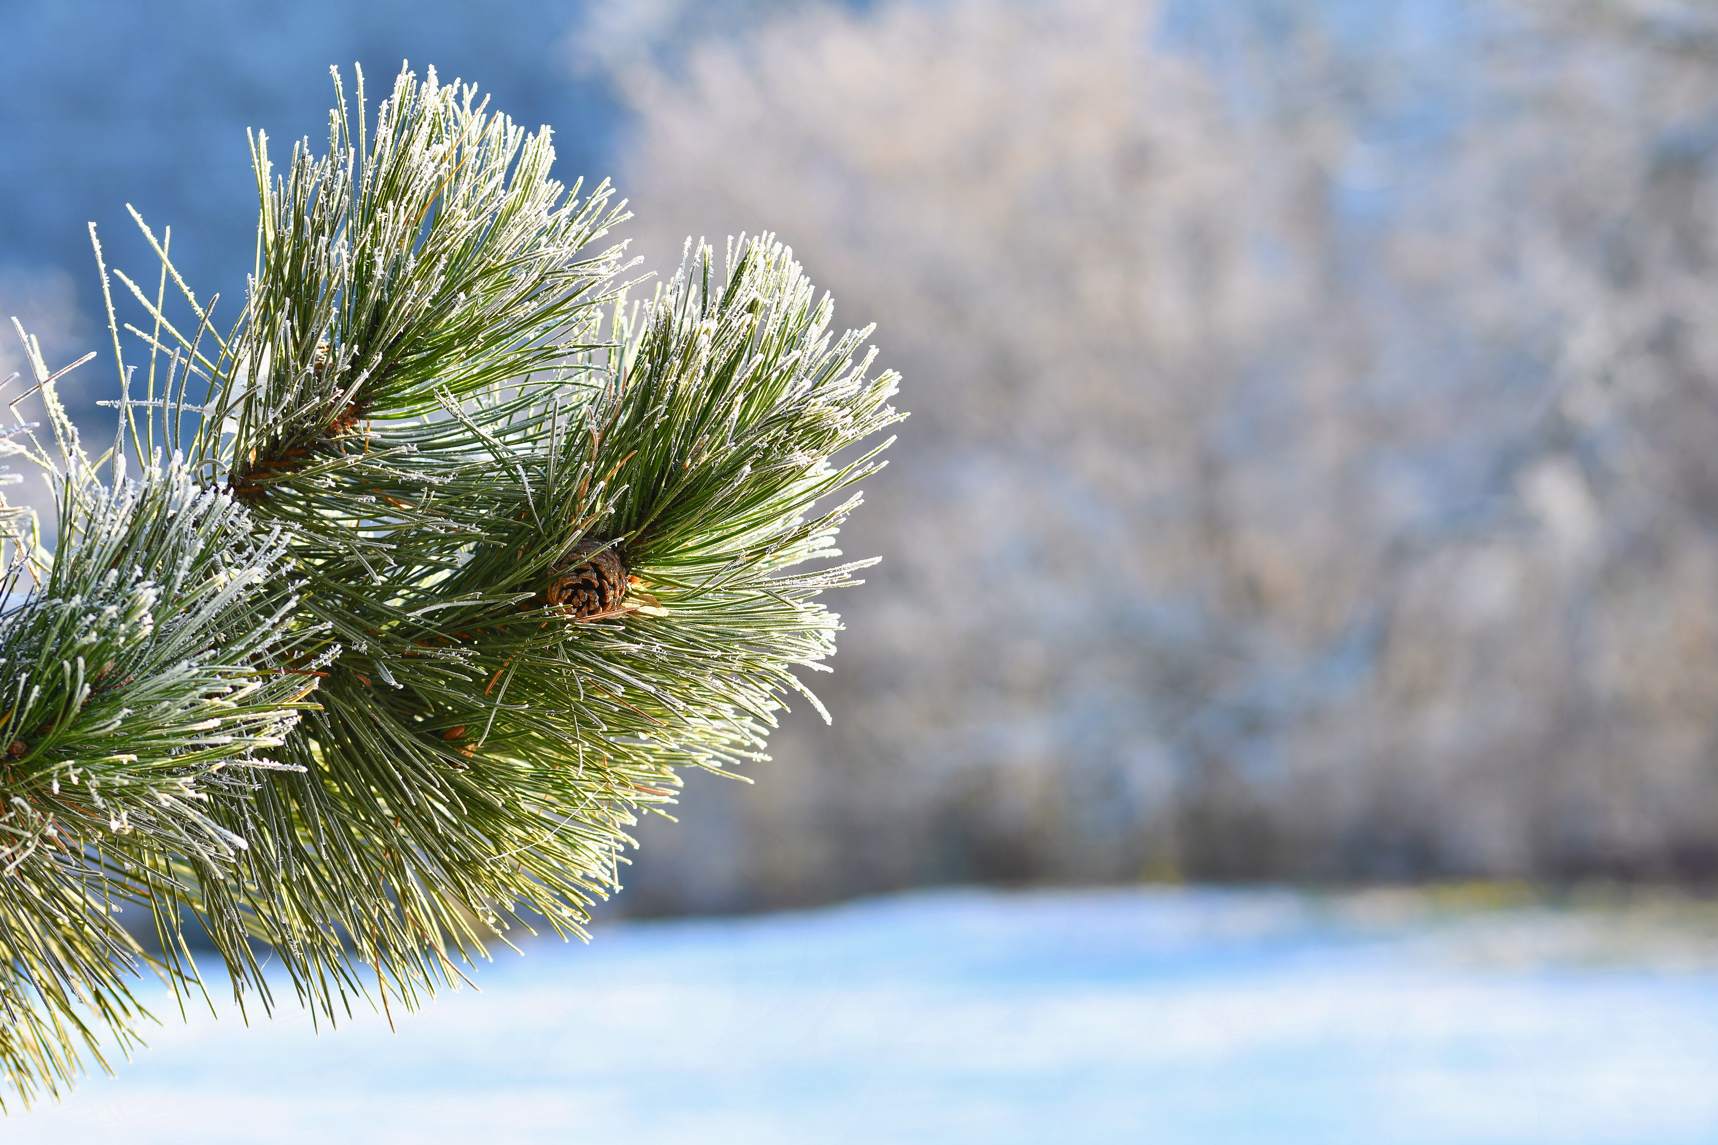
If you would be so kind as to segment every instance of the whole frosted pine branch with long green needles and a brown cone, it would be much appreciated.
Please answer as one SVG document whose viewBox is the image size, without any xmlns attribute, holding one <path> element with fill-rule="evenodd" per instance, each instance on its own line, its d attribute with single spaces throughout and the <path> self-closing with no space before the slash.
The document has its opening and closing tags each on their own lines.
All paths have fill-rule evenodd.
<svg viewBox="0 0 1718 1145">
<path fill-rule="evenodd" d="M 550 179 L 548 132 L 471 88 L 405 72 L 369 136 L 359 77 L 325 156 L 297 146 L 277 177 L 253 149 L 239 321 L 216 333 L 137 220 L 160 287 L 113 280 L 149 316 L 129 326 L 144 397 L 122 357 L 120 441 L 91 463 L 38 369 L 58 460 L 29 431 L 17 446 L 55 474 L 62 524 L 52 556 L 14 530 L 14 579 L 45 587 L 0 618 L 0 671 L 43 690 L 0 774 L 31 807 L 19 870 L 60 905 L 0 910 L 50 936 L 14 970 L 70 984 L 122 1045 L 137 1013 L 115 968 L 139 951 L 74 894 L 148 901 L 175 982 L 194 918 L 241 1001 L 270 1006 L 266 942 L 330 1021 L 371 985 L 417 1004 L 529 920 L 582 934 L 679 767 L 759 759 L 789 692 L 816 704 L 794 669 L 840 625 L 814 597 L 868 561 L 790 570 L 838 556 L 857 494 L 832 496 L 883 446 L 832 458 L 899 417 L 869 331 L 835 336 L 768 237 L 720 266 L 689 249 L 629 304 L 606 185 Z M 213 716 L 187 721 L 210 704 L 204 742 Z M 53 767 L 82 785 L 67 809 Z M 74 1035 L 94 1044 L 57 999 L 38 987 L 27 1035 L 0 1044 L 26 1092 L 70 1076 Z"/>
</svg>

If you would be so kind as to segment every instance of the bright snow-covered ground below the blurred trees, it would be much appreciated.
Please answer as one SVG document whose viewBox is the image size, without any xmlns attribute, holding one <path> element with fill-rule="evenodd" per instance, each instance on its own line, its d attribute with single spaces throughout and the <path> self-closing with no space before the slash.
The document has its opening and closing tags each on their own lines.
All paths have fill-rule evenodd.
<svg viewBox="0 0 1718 1145">
<path fill-rule="evenodd" d="M 1697 924 L 1285 891 L 610 924 L 395 1013 L 397 1035 L 175 1016 L 0 1138 L 1709 1143 Z"/>
</svg>

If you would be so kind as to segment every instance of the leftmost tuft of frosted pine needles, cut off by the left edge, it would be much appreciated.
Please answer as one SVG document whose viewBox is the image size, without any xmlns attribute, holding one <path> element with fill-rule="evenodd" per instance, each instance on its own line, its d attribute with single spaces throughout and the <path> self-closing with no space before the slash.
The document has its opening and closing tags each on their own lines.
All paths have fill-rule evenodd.
<svg viewBox="0 0 1718 1145">
<path fill-rule="evenodd" d="M 136 1042 L 120 905 L 156 913 L 155 965 L 187 980 L 175 867 L 234 874 L 222 807 L 285 766 L 259 752 L 314 683 L 277 668 L 297 611 L 278 534 L 184 465 L 101 486 L 52 385 L 46 405 L 60 463 L 27 427 L 22 453 L 60 493 L 58 544 L 14 560 L 0 616 L 0 1068 L 26 1100 L 72 1080 L 77 1042 L 105 1064 L 101 1027 Z"/>
</svg>

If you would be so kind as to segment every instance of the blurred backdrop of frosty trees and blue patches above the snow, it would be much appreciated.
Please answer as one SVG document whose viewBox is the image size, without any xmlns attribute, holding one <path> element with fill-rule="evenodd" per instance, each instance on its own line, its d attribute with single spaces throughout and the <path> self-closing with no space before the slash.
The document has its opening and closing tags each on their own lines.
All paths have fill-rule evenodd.
<svg viewBox="0 0 1718 1145">
<path fill-rule="evenodd" d="M 244 203 L 242 127 L 350 57 L 555 124 L 651 266 L 768 223 L 880 321 L 916 417 L 835 726 L 694 779 L 624 908 L 1718 870 L 1709 7 L 187 0 L 76 60 L 52 7 L 0 5 L 0 292 L 67 348 L 120 168 Z"/>
</svg>

